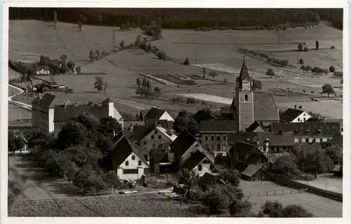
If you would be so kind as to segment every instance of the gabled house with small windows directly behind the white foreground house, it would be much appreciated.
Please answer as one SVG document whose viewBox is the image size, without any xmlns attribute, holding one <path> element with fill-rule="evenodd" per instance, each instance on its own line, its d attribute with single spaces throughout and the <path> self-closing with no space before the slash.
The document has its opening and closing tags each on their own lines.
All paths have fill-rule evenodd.
<svg viewBox="0 0 351 224">
<path fill-rule="evenodd" d="M 132 140 L 143 151 L 143 155 L 150 160 L 150 150 L 164 148 L 176 140 L 177 135 L 171 130 L 166 130 L 161 125 L 151 123 L 149 125 L 135 126 L 132 132 Z"/>
</svg>

